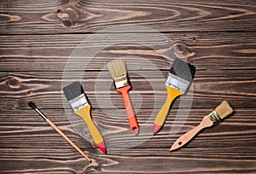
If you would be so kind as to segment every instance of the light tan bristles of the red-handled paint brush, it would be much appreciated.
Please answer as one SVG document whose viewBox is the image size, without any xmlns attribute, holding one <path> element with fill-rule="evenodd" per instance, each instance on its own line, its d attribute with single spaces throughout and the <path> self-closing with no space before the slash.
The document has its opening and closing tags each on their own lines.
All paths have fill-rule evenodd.
<svg viewBox="0 0 256 174">
<path fill-rule="evenodd" d="M 119 78 L 126 75 L 125 60 L 113 60 L 108 63 L 108 69 L 112 78 Z"/>
</svg>

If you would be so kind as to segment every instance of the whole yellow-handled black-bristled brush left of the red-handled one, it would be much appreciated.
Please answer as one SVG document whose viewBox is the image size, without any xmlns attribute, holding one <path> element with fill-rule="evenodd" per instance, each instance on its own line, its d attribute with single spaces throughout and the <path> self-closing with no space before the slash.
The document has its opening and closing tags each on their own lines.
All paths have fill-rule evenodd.
<svg viewBox="0 0 256 174">
<path fill-rule="evenodd" d="M 96 142 L 96 146 L 106 154 L 107 151 L 102 135 L 90 117 L 90 104 L 85 97 L 83 86 L 79 82 L 73 82 L 64 87 L 63 91 L 67 101 L 73 108 L 73 112 L 84 119 L 92 139 Z"/>
</svg>

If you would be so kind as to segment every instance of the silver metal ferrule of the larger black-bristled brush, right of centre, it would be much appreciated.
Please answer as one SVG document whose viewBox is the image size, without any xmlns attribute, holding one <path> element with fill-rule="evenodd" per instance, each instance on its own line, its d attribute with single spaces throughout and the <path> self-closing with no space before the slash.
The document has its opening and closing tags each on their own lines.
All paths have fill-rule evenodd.
<svg viewBox="0 0 256 174">
<path fill-rule="evenodd" d="M 173 75 L 172 73 L 169 73 L 166 79 L 166 85 L 174 88 L 175 90 L 180 90 L 183 93 L 185 93 L 188 90 L 189 84 L 189 81 L 184 80 L 183 78 L 179 78 L 176 75 Z"/>
</svg>

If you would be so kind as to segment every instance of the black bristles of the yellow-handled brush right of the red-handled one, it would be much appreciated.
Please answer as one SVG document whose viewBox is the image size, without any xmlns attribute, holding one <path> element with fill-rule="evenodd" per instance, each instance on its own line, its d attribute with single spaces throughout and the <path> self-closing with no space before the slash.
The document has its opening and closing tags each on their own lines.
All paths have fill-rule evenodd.
<svg viewBox="0 0 256 174">
<path fill-rule="evenodd" d="M 170 73 L 177 75 L 179 78 L 192 82 L 192 79 L 195 76 L 195 67 L 185 61 L 176 59 L 173 62 Z"/>
</svg>

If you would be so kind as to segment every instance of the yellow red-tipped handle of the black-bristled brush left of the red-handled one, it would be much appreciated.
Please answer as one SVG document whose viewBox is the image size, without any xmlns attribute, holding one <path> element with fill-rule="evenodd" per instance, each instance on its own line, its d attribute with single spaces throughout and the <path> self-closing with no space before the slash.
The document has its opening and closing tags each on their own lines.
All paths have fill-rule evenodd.
<svg viewBox="0 0 256 174">
<path fill-rule="evenodd" d="M 105 143 L 104 143 L 102 134 L 100 133 L 100 131 L 98 131 L 98 129 L 96 128 L 96 125 L 94 124 L 94 122 L 90 117 L 90 105 L 80 108 L 75 113 L 79 115 L 82 119 L 84 119 L 90 131 L 90 135 L 92 139 L 94 140 L 94 142 L 96 142 L 96 146 L 100 148 L 104 154 L 106 154 L 106 148 L 105 148 Z"/>
</svg>

